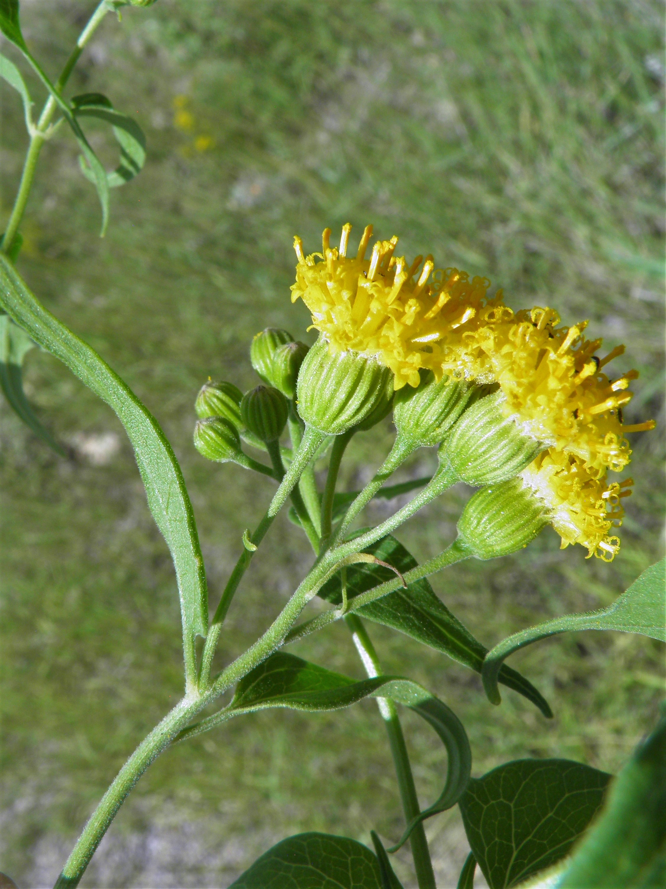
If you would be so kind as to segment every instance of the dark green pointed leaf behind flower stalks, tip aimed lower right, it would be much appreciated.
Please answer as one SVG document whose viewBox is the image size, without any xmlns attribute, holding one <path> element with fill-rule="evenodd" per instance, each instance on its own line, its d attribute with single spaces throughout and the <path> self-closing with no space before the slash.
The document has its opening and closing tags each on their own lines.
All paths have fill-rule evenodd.
<svg viewBox="0 0 666 889">
<path fill-rule="evenodd" d="M 393 565 L 402 574 L 416 568 L 416 559 L 391 535 L 372 544 L 364 552 L 371 553 L 388 565 Z M 382 565 L 350 566 L 347 568 L 347 594 L 357 596 L 379 583 L 392 580 L 393 576 L 393 573 Z M 324 584 L 319 595 L 334 605 L 340 605 L 342 586 L 339 574 Z M 477 673 L 481 672 L 488 649 L 454 617 L 425 578 L 410 583 L 408 589 L 398 589 L 388 596 L 377 599 L 376 602 L 363 605 L 358 613 L 369 621 L 398 629 L 417 642 L 448 654 L 448 657 L 464 664 L 465 667 Z M 534 685 L 527 682 L 527 679 L 518 672 L 503 667 L 499 680 L 532 701 L 544 716 L 552 716 L 548 702 L 537 692 Z"/>
</svg>

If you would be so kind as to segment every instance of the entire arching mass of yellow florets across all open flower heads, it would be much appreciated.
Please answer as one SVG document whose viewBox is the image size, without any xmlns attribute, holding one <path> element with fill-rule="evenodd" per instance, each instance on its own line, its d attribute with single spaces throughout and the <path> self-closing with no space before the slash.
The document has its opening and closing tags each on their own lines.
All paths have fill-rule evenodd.
<svg viewBox="0 0 666 889">
<path fill-rule="evenodd" d="M 586 322 L 559 326 L 551 308 L 514 312 L 501 291 L 488 296 L 487 278 L 436 269 L 432 256 L 412 263 L 395 256 L 396 236 L 377 241 L 367 260 L 372 226 L 356 255 L 347 256 L 351 229 L 343 226 L 339 247 L 331 247 L 327 228 L 321 252 L 310 255 L 294 239 L 291 300 L 305 302 L 329 348 L 375 358 L 392 370 L 396 389 L 416 387 L 422 368 L 437 379 L 446 373 L 498 385 L 506 415 L 548 448 L 525 470 L 524 482 L 549 504 L 563 546 L 579 542 L 612 558 L 619 541 L 607 533 L 621 524 L 619 498 L 630 491 L 604 487 L 604 477 L 630 460 L 624 433 L 654 428 L 652 421 L 622 423 L 627 387 L 638 373 L 612 382 L 602 371 L 624 347 L 599 358 L 601 340 L 585 340 Z"/>
</svg>

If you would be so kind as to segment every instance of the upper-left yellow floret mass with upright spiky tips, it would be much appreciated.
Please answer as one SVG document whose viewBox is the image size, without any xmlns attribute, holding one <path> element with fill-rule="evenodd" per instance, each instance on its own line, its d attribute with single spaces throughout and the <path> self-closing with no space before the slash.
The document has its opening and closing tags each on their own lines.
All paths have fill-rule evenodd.
<svg viewBox="0 0 666 889">
<path fill-rule="evenodd" d="M 432 256 L 418 256 L 411 264 L 394 256 L 396 236 L 377 241 L 366 260 L 372 226 L 365 228 L 356 256 L 348 257 L 351 230 L 343 226 L 335 248 L 327 228 L 322 252 L 309 256 L 301 239 L 294 239 L 298 264 L 291 300 L 305 302 L 313 327 L 330 347 L 377 358 L 394 373 L 396 389 L 418 386 L 419 368 L 439 379 L 445 363 L 455 365 L 458 378 L 477 376 L 478 366 L 460 333 L 471 323 L 488 324 L 502 305 L 501 293 L 488 299 L 488 279 L 470 281 L 456 268 L 435 269 Z M 476 342 L 470 348 L 482 353 Z"/>
</svg>

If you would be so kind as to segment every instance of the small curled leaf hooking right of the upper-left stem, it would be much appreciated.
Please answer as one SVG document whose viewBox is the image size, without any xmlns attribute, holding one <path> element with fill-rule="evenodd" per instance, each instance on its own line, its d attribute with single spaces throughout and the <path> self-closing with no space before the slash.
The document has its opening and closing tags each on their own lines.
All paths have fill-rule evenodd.
<svg viewBox="0 0 666 889">
<path fill-rule="evenodd" d="M 96 117 L 111 124 L 115 139 L 120 145 L 120 164 L 113 172 L 107 172 L 109 188 L 118 188 L 133 179 L 146 161 L 146 137 L 135 120 L 115 111 L 110 100 L 100 92 L 85 92 L 72 99 L 75 117 Z M 83 175 L 95 184 L 95 174 L 83 156 L 79 158 Z"/>
</svg>

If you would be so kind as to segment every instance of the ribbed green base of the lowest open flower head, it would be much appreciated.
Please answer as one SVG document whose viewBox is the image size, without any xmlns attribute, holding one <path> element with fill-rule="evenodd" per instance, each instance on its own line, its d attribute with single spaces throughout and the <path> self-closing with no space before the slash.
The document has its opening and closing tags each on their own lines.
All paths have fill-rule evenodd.
<svg viewBox="0 0 666 889">
<path fill-rule="evenodd" d="M 543 504 L 519 478 L 511 478 L 467 502 L 458 519 L 458 540 L 477 558 L 508 556 L 527 547 L 547 524 Z"/>
</svg>

